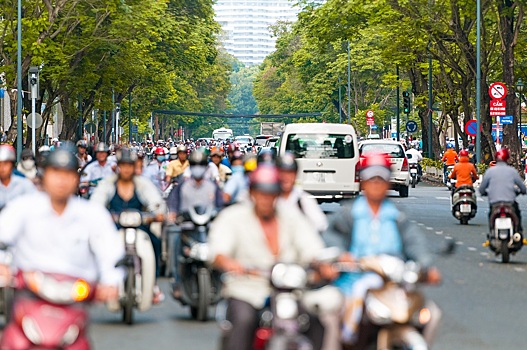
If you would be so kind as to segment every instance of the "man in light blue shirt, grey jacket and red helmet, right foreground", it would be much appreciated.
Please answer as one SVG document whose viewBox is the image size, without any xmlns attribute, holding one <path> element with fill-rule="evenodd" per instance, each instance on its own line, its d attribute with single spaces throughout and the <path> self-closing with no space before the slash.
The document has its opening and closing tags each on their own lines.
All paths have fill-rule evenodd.
<svg viewBox="0 0 527 350">
<path fill-rule="evenodd" d="M 440 273 L 431 267 L 432 253 L 417 226 L 387 199 L 390 189 L 390 159 L 386 154 L 364 155 L 360 172 L 362 195 L 342 206 L 333 216 L 324 239 L 328 246 L 343 252 L 342 262 L 354 262 L 365 256 L 390 254 L 413 260 L 427 269 L 430 283 L 440 281 Z M 359 325 L 366 291 L 381 286 L 382 279 L 374 274 L 342 273 L 335 285 L 346 296 L 342 341 L 365 349 Z M 430 340 L 433 328 L 425 332 Z M 428 336 L 427 336 L 428 335 Z"/>
</svg>

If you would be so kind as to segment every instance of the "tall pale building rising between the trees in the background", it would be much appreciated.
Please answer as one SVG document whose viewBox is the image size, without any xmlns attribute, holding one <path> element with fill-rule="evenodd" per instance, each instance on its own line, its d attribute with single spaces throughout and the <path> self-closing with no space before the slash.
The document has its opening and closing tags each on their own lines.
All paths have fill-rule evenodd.
<svg viewBox="0 0 527 350">
<path fill-rule="evenodd" d="M 275 49 L 269 26 L 294 22 L 298 8 L 290 0 L 217 0 L 216 21 L 223 29 L 223 46 L 245 65 L 255 65 Z"/>
</svg>

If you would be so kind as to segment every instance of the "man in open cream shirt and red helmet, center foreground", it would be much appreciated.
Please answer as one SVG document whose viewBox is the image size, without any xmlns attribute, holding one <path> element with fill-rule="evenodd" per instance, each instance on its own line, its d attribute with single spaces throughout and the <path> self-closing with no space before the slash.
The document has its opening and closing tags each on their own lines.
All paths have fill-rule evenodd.
<svg viewBox="0 0 527 350">
<path fill-rule="evenodd" d="M 269 279 L 244 274 L 246 268 L 267 271 L 280 261 L 309 263 L 323 243 L 298 210 L 280 195 L 278 171 L 259 166 L 250 174 L 250 202 L 232 205 L 216 217 L 209 232 L 213 265 L 230 274 L 223 287 L 230 327 L 223 334 L 223 349 L 251 349 L 258 327 L 258 311 L 271 294 Z M 308 336 L 320 349 L 323 328 L 311 317 Z"/>
</svg>

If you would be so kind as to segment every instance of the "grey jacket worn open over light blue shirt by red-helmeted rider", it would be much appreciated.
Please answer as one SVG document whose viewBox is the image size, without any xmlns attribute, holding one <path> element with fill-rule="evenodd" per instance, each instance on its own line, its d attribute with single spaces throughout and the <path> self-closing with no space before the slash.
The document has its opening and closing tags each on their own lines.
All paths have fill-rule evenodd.
<svg viewBox="0 0 527 350">
<path fill-rule="evenodd" d="M 341 251 L 349 251 L 353 241 L 354 219 L 351 214 L 353 204 L 354 201 L 344 203 L 340 211 L 333 215 L 328 229 L 322 234 L 326 246 L 338 247 Z M 402 212 L 399 212 L 397 228 L 401 235 L 403 258 L 413 260 L 423 268 L 430 267 L 433 260 L 432 253 L 423 233 Z"/>
</svg>

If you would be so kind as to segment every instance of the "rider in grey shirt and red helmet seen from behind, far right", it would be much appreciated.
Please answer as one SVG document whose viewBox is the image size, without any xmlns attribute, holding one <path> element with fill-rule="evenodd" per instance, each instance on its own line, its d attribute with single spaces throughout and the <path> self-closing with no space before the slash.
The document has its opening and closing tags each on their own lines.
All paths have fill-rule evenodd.
<svg viewBox="0 0 527 350">
<path fill-rule="evenodd" d="M 489 197 L 489 205 L 492 206 L 499 202 L 511 203 L 516 216 L 518 217 L 519 231 L 522 229 L 521 211 L 516 202 L 518 191 L 522 194 L 527 193 L 527 188 L 522 178 L 512 166 L 507 165 L 510 154 L 507 148 L 502 148 L 496 152 L 496 166 L 490 167 L 485 171 L 483 180 L 479 185 L 479 192 L 482 196 Z M 489 219 L 492 209 L 489 211 Z"/>
</svg>

